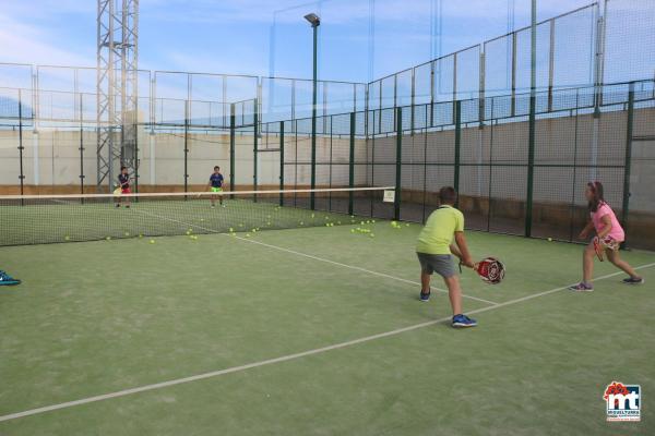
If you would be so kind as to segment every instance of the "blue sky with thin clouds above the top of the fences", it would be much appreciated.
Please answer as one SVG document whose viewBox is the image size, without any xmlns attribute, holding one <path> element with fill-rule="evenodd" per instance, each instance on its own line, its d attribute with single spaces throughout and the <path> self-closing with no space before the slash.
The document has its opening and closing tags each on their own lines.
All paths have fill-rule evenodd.
<svg viewBox="0 0 655 436">
<path fill-rule="evenodd" d="M 376 0 L 371 62 L 369 0 L 141 0 L 139 66 L 311 77 L 311 29 L 302 16 L 317 12 L 320 78 L 368 82 L 529 24 L 529 0 L 443 0 L 438 44 L 433 2 Z M 540 0 L 538 20 L 587 2 Z M 95 66 L 96 1 L 2 0 L 0 62 Z"/>
</svg>

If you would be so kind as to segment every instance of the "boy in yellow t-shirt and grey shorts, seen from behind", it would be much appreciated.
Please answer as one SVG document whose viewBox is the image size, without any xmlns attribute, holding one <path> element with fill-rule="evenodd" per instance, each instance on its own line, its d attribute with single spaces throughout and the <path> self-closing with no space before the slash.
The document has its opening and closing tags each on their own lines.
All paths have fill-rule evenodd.
<svg viewBox="0 0 655 436">
<path fill-rule="evenodd" d="M 430 278 L 433 272 L 443 277 L 453 308 L 453 327 L 475 327 L 477 322 L 462 313 L 462 288 L 455 270 L 452 255 L 460 258 L 462 265 L 474 268 L 475 264 L 464 238 L 464 215 L 454 205 L 457 193 L 452 186 L 439 190 L 441 206 L 428 217 L 426 226 L 418 235 L 416 254 L 420 262 L 420 301 L 430 300 Z M 453 244 L 453 239 L 455 244 Z"/>
</svg>

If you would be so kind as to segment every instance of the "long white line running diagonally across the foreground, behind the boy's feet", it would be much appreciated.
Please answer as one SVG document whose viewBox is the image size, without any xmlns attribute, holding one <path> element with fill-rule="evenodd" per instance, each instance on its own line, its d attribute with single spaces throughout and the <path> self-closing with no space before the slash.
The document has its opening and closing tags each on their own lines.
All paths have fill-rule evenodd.
<svg viewBox="0 0 655 436">
<path fill-rule="evenodd" d="M 642 266 L 639 266 L 639 267 L 636 267 L 634 269 L 650 268 L 650 267 L 653 267 L 653 266 L 655 266 L 655 263 L 642 265 Z M 622 275 L 622 274 L 624 274 L 624 272 L 618 271 L 618 272 L 608 274 L 606 276 L 600 276 L 600 277 L 594 279 L 593 281 L 605 280 L 605 279 L 608 279 L 610 277 L 616 277 L 616 276 L 619 276 L 619 275 Z M 569 286 L 571 286 L 571 284 L 569 284 Z M 539 292 L 539 293 L 534 293 L 534 294 L 522 296 L 522 298 L 515 299 L 515 300 L 505 301 L 504 303 L 498 303 L 498 304 L 492 305 L 492 306 L 486 306 L 486 307 L 481 307 L 481 308 L 476 308 L 475 311 L 468 312 L 468 314 L 469 315 L 474 315 L 474 314 L 477 314 L 477 313 L 493 311 L 493 310 L 499 308 L 499 307 L 504 307 L 504 306 L 513 305 L 513 304 L 521 303 L 521 302 L 524 302 L 524 301 L 533 300 L 533 299 L 536 299 L 536 298 L 539 298 L 539 296 L 544 296 L 544 295 L 548 295 L 548 294 L 551 294 L 551 293 L 555 293 L 555 292 L 562 291 L 564 289 L 568 289 L 569 286 L 561 287 L 561 288 L 550 289 L 548 291 L 544 291 L 544 292 Z M 272 365 L 274 363 L 287 362 L 287 361 L 291 361 L 291 360 L 305 358 L 305 356 L 308 356 L 308 355 L 324 353 L 326 351 L 332 351 L 332 350 L 338 350 L 338 349 L 342 349 L 342 348 L 352 347 L 352 346 L 356 346 L 356 344 L 364 343 L 364 342 L 370 342 L 370 341 L 373 341 L 376 339 L 388 338 L 390 336 L 395 336 L 395 335 L 404 334 L 406 331 L 412 331 L 412 330 L 416 330 L 416 329 L 419 329 L 419 328 L 429 327 L 429 326 L 432 326 L 434 324 L 444 323 L 444 322 L 448 322 L 450 319 L 451 319 L 451 317 L 446 316 L 446 317 L 443 317 L 443 318 L 439 318 L 439 319 L 434 319 L 434 320 L 429 320 L 429 322 L 425 322 L 425 323 L 420 323 L 420 324 L 415 324 L 413 326 L 407 326 L 407 327 L 398 328 L 398 329 L 391 330 L 391 331 L 385 331 L 385 332 L 378 334 L 378 335 L 367 336 L 367 337 L 364 337 L 364 338 L 354 339 L 354 340 L 349 340 L 349 341 L 346 341 L 346 342 L 341 342 L 341 343 L 335 343 L 335 344 L 327 346 L 327 347 L 317 348 L 317 349 L 313 349 L 313 350 L 302 351 L 300 353 L 283 355 L 281 358 L 269 359 L 269 360 L 261 361 L 261 362 L 253 362 L 253 363 L 249 363 L 247 365 L 233 366 L 233 367 L 229 367 L 229 368 L 218 370 L 218 371 L 212 371 L 210 373 L 198 374 L 198 375 L 193 375 L 193 376 L 190 376 L 190 377 L 176 378 L 174 380 L 156 383 L 156 384 L 153 384 L 153 385 L 140 386 L 140 387 L 136 387 L 136 388 L 119 390 L 119 391 L 116 391 L 116 392 L 104 393 L 104 395 L 99 395 L 99 396 L 95 396 L 95 397 L 87 397 L 87 398 L 83 398 L 83 399 L 75 400 L 75 401 L 67 401 L 67 402 L 62 402 L 62 403 L 59 403 L 59 404 L 46 405 L 46 407 L 43 407 L 43 408 L 31 409 L 31 410 L 26 410 L 26 411 L 23 411 L 23 412 L 11 413 L 11 414 L 8 414 L 8 415 L 0 416 L 0 422 L 15 420 L 15 419 L 19 419 L 19 417 L 25 417 L 25 416 L 36 415 L 36 414 L 45 413 L 45 412 L 51 412 L 53 410 L 59 410 L 59 409 L 68 409 L 68 408 L 72 408 L 72 407 L 81 405 L 81 404 L 88 404 L 91 402 L 97 402 L 97 401 L 108 400 L 108 399 L 111 399 L 111 398 L 127 397 L 127 396 L 130 396 L 130 395 L 133 395 L 133 393 L 145 392 L 145 391 L 148 391 L 148 390 L 155 390 L 155 389 L 160 389 L 160 388 L 165 388 L 165 387 L 169 387 L 169 386 L 181 385 L 181 384 L 184 384 L 184 383 L 191 383 L 191 382 L 202 380 L 202 379 L 217 377 L 217 376 L 225 375 L 225 374 L 238 373 L 238 372 L 246 371 L 246 370 L 251 370 L 251 368 L 254 368 L 254 367 L 260 367 L 260 366 L 265 366 L 265 365 Z"/>
</svg>

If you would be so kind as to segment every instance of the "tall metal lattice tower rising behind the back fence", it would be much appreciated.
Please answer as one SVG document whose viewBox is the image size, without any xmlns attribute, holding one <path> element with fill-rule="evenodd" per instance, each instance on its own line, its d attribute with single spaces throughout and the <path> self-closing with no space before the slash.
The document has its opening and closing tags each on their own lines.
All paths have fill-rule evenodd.
<svg viewBox="0 0 655 436">
<path fill-rule="evenodd" d="M 139 0 L 98 0 L 98 192 L 112 190 L 121 165 L 138 177 Z"/>
</svg>

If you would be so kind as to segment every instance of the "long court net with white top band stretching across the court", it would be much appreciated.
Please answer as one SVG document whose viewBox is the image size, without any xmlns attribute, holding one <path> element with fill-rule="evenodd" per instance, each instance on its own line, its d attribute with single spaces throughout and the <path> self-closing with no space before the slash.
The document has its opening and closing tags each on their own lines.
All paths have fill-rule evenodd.
<svg viewBox="0 0 655 436">
<path fill-rule="evenodd" d="M 391 218 L 390 190 L 1 195 L 0 246 L 359 223 Z"/>
</svg>

